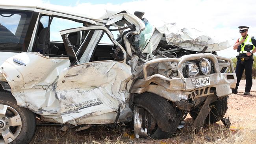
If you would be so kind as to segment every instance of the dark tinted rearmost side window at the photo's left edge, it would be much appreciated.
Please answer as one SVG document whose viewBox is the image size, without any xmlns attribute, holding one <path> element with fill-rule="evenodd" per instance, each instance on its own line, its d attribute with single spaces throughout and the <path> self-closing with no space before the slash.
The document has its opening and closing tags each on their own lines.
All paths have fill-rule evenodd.
<svg viewBox="0 0 256 144">
<path fill-rule="evenodd" d="M 28 11 L 0 11 L 0 50 L 22 50 L 31 16 Z"/>
</svg>

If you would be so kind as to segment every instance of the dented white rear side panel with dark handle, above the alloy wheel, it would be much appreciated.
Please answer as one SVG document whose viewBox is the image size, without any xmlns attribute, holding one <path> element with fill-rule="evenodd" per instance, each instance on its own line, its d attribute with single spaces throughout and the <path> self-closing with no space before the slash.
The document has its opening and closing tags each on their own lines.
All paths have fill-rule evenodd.
<svg viewBox="0 0 256 144">
<path fill-rule="evenodd" d="M 26 66 L 13 61 L 17 58 Z M 68 58 L 49 58 L 37 53 L 24 52 L 7 59 L 1 66 L 17 104 L 38 114 L 59 114 L 59 102 L 55 96 L 56 79 Z"/>
</svg>

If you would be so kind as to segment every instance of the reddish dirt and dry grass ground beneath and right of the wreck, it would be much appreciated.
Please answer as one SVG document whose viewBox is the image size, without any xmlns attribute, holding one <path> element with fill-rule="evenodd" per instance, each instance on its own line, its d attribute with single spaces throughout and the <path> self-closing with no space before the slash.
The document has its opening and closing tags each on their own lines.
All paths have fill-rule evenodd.
<svg viewBox="0 0 256 144">
<path fill-rule="evenodd" d="M 191 127 L 193 120 L 188 114 L 184 120 L 185 126 L 177 130 L 173 137 L 162 140 L 134 138 L 133 131 L 127 126 L 113 129 L 97 126 L 78 132 L 74 129 L 63 132 L 58 126 L 40 126 L 37 127 L 31 144 L 203 144 L 218 143 L 218 141 L 220 144 L 234 144 L 236 142 L 227 140 L 234 139 L 232 134 L 247 128 L 250 129 L 249 133 L 251 130 L 256 133 L 256 92 L 251 92 L 250 95 L 243 93 L 229 95 L 228 111 L 225 116 L 230 118 L 230 129 L 226 129 L 220 121 L 212 125 L 206 124 L 195 133 Z M 239 141 L 241 140 L 238 140 L 238 143 Z M 249 141 L 249 143 L 253 142 Z"/>
</svg>

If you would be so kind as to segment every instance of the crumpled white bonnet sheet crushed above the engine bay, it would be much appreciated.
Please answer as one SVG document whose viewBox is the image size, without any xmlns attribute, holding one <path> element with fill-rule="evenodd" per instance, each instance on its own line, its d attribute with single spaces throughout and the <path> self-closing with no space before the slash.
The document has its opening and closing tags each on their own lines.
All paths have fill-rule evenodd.
<svg viewBox="0 0 256 144">
<path fill-rule="evenodd" d="M 231 46 L 228 41 L 216 41 L 195 28 L 180 29 L 176 23 L 167 23 L 158 27 L 157 30 L 165 34 L 162 40 L 167 41 L 169 45 L 178 46 L 185 50 L 200 52 L 205 46 L 208 46 L 206 52 L 212 52 L 224 50 Z"/>
</svg>

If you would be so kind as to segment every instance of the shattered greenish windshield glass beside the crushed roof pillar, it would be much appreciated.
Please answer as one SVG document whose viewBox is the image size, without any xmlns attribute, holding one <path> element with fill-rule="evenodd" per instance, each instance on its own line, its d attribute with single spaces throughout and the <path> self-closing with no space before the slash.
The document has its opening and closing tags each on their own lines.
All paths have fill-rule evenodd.
<svg viewBox="0 0 256 144">
<path fill-rule="evenodd" d="M 143 18 L 142 21 L 145 24 L 145 29 L 139 33 L 139 35 L 135 35 L 134 38 L 134 48 L 135 50 L 143 51 L 144 48 L 147 46 L 152 34 L 154 32 L 154 26 L 148 22 L 146 18 Z"/>
</svg>

